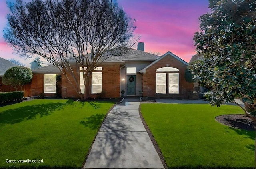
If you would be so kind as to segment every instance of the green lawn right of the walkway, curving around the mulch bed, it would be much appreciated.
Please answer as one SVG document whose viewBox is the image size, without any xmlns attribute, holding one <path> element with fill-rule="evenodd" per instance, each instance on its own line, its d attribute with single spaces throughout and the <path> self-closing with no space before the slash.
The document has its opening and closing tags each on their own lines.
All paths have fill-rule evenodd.
<svg viewBox="0 0 256 169">
<path fill-rule="evenodd" d="M 254 167 L 254 131 L 215 121 L 224 114 L 243 114 L 238 106 L 141 104 L 142 115 L 168 168 Z"/>
</svg>

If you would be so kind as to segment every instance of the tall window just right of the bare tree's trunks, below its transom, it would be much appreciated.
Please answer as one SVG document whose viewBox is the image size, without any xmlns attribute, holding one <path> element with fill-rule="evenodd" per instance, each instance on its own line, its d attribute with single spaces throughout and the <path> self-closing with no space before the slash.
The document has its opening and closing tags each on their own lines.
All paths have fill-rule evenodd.
<svg viewBox="0 0 256 169">
<path fill-rule="evenodd" d="M 92 94 L 102 92 L 102 72 L 92 72 Z"/>
</svg>

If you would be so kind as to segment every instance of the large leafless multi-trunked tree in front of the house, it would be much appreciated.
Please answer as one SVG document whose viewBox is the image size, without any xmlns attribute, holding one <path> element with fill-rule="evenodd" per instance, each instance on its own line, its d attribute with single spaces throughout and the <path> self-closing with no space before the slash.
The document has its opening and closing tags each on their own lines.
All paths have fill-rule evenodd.
<svg viewBox="0 0 256 169">
<path fill-rule="evenodd" d="M 134 20 L 114 0 L 32 0 L 8 3 L 4 38 L 22 56 L 37 54 L 58 67 L 81 99 L 89 97 L 92 71 L 110 56 L 124 52 L 133 37 Z M 76 63 L 72 66 L 71 63 Z M 84 74 L 84 96 L 80 90 Z"/>
</svg>

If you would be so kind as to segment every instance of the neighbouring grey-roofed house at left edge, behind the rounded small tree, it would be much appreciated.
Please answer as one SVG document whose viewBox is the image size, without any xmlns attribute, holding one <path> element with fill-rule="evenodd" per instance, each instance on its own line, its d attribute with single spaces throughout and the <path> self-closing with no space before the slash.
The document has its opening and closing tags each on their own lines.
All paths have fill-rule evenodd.
<svg viewBox="0 0 256 169">
<path fill-rule="evenodd" d="M 15 91 L 15 88 L 9 85 L 4 85 L 2 83 L 2 77 L 4 76 L 4 73 L 9 68 L 12 68 L 14 66 L 18 66 L 8 60 L 5 60 L 4 58 L 0 58 L 0 92 L 9 92 L 9 91 Z"/>
</svg>

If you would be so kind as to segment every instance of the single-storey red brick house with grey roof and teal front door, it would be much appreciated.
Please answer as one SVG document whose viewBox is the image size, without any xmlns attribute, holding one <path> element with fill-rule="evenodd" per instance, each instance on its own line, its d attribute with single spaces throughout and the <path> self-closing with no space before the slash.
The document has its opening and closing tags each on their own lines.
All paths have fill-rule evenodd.
<svg viewBox="0 0 256 169">
<path fill-rule="evenodd" d="M 70 62 L 73 68 L 76 63 Z M 139 96 L 142 91 L 144 97 L 189 99 L 189 94 L 194 90 L 193 84 L 186 82 L 185 71 L 188 63 L 178 56 L 167 52 L 157 56 L 144 52 L 144 43 L 138 43 L 138 50 L 130 49 L 121 56 L 112 56 L 92 73 L 90 97 L 97 97 L 97 93 L 104 93 L 103 97 L 115 98 L 121 96 Z M 32 69 L 33 78 L 31 94 L 54 96 L 56 88 L 56 74 L 61 74 L 54 66 L 44 66 Z M 82 73 L 82 72 L 81 72 Z M 84 91 L 82 74 L 80 88 Z M 71 83 L 74 83 L 70 77 Z M 68 81 L 62 75 L 62 97 L 79 97 Z"/>
</svg>

